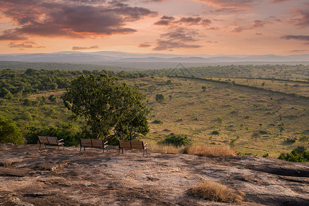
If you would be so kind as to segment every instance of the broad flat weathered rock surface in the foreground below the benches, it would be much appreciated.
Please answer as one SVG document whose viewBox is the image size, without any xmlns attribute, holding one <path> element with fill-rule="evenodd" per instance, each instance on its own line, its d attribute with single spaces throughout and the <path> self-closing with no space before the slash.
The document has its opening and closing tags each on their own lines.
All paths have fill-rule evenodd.
<svg viewBox="0 0 309 206">
<path fill-rule="evenodd" d="M 200 181 L 241 190 L 244 202 L 197 198 Z M 0 205 L 309 205 L 309 163 L 0 146 Z"/>
</svg>

